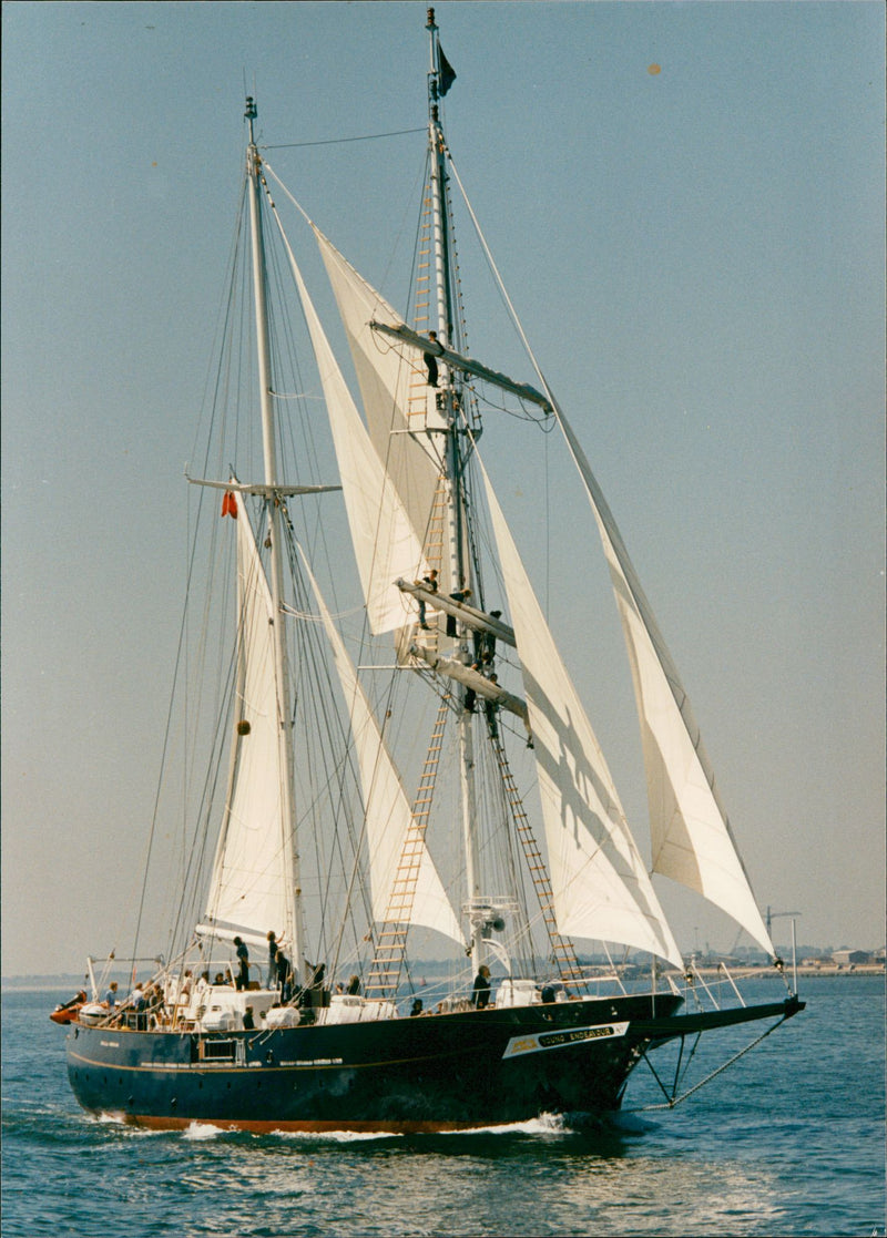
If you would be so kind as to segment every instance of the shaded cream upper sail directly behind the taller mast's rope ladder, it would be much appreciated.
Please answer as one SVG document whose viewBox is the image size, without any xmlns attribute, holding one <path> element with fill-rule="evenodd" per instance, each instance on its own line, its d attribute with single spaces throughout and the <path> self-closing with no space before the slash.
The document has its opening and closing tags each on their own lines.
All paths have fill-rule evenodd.
<svg viewBox="0 0 887 1238">
<path fill-rule="evenodd" d="M 443 436 L 425 431 L 445 428 L 443 418 L 430 399 L 424 366 L 404 361 L 369 326 L 375 321 L 399 327 L 401 318 L 332 241 L 317 228 L 313 230 L 348 338 L 369 437 L 424 542 L 443 463 Z M 447 565 L 440 565 L 440 571 L 441 592 L 448 593 L 456 586 L 448 584 Z"/>
</svg>

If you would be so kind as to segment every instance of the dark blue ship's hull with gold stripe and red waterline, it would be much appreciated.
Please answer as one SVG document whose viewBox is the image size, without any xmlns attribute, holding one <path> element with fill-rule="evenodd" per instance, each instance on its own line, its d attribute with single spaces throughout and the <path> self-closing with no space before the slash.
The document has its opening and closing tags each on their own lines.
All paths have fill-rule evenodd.
<svg viewBox="0 0 887 1238">
<path fill-rule="evenodd" d="M 680 998 L 621 997 L 378 1023 L 197 1035 L 76 1024 L 79 1103 L 142 1125 L 446 1130 L 619 1106 L 632 1020 Z"/>
</svg>

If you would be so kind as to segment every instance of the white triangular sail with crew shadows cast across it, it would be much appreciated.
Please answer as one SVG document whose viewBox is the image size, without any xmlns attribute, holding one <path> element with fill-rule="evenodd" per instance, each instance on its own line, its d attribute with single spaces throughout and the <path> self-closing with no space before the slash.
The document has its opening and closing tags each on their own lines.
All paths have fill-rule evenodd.
<svg viewBox="0 0 887 1238">
<path fill-rule="evenodd" d="M 681 967 L 603 754 L 486 472 L 484 483 L 530 714 L 557 928 L 647 950 Z"/>
</svg>

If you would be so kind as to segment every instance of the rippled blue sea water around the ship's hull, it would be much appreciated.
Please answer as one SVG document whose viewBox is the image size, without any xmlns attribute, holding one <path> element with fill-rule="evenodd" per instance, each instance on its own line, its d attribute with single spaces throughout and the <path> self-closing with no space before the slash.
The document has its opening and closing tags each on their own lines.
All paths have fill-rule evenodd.
<svg viewBox="0 0 887 1238">
<path fill-rule="evenodd" d="M 756 999 L 773 992 L 759 982 Z M 878 978 L 806 982 L 805 1011 L 670 1112 L 643 1108 L 662 1093 L 642 1066 L 627 1101 L 639 1112 L 595 1129 L 540 1117 L 409 1138 L 145 1133 L 89 1118 L 48 1020 L 69 995 L 2 994 L 4 1238 L 885 1236 Z M 730 1047 L 752 1035 L 730 1031 Z"/>
</svg>

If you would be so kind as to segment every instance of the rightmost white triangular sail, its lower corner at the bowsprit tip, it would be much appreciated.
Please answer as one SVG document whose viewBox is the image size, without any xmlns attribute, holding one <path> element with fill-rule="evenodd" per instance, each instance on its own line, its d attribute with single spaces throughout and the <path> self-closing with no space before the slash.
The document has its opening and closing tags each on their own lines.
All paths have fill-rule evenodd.
<svg viewBox="0 0 887 1238">
<path fill-rule="evenodd" d="M 773 943 L 678 669 L 588 461 L 562 411 L 554 406 L 597 520 L 628 646 L 647 771 L 653 872 L 716 904 L 772 954 Z"/>
</svg>

